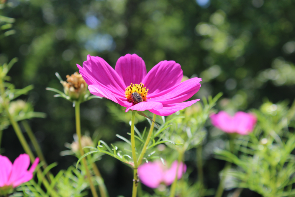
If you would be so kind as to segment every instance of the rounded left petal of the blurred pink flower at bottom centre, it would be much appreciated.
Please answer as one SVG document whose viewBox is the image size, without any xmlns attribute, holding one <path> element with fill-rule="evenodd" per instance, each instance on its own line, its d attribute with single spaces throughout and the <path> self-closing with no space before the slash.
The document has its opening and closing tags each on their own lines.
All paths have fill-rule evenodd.
<svg viewBox="0 0 295 197">
<path fill-rule="evenodd" d="M 159 187 L 163 180 L 163 168 L 157 162 L 148 162 L 138 167 L 140 182 L 150 188 Z"/>
</svg>

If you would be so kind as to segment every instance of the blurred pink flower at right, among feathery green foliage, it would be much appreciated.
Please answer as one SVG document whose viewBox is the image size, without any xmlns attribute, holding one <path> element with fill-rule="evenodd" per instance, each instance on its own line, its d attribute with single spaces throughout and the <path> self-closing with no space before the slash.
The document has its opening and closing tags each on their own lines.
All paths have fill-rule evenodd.
<svg viewBox="0 0 295 197">
<path fill-rule="evenodd" d="M 256 124 L 257 118 L 251 113 L 237 112 L 231 117 L 225 111 L 210 116 L 214 126 L 227 133 L 239 133 L 247 135 L 252 132 Z"/>
</svg>

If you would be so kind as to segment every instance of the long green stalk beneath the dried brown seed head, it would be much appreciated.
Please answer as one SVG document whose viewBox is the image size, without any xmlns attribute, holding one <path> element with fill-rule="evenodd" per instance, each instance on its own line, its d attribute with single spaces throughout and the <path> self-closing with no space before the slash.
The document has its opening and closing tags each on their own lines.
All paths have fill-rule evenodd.
<svg viewBox="0 0 295 197">
<path fill-rule="evenodd" d="M 75 104 L 75 115 L 76 115 L 76 133 L 77 133 L 77 136 L 78 136 L 79 151 L 80 151 L 80 154 L 82 156 L 84 154 L 84 151 L 83 151 L 82 145 L 81 145 L 80 102 L 76 102 L 76 104 Z M 88 178 L 88 181 L 89 181 L 92 196 L 93 197 L 98 197 L 98 195 L 96 193 L 96 190 L 95 190 L 95 187 L 94 187 L 94 184 L 93 184 L 93 182 L 91 180 L 90 171 L 88 169 L 85 157 L 83 157 L 83 159 L 82 159 L 82 164 L 84 165 L 85 170 L 86 170 L 86 175 L 87 175 L 87 178 Z"/>
</svg>

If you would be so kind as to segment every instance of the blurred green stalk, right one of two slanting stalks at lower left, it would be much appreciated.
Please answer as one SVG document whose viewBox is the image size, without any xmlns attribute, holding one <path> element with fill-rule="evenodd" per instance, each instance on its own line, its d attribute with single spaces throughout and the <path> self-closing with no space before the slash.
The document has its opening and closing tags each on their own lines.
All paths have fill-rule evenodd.
<svg viewBox="0 0 295 197">
<path fill-rule="evenodd" d="M 43 167 L 43 169 L 45 169 L 48 165 L 47 165 L 47 163 L 45 161 L 45 157 L 44 157 L 44 155 L 43 155 L 43 153 L 41 151 L 41 147 L 39 146 L 39 144 L 37 142 L 37 139 L 36 139 L 32 129 L 30 128 L 29 124 L 26 121 L 22 121 L 22 125 L 24 126 L 24 130 L 27 132 L 27 134 L 28 134 L 28 136 L 29 136 L 29 138 L 30 138 L 30 140 L 32 142 L 32 144 L 34 146 L 34 149 L 36 150 L 36 153 L 37 153 L 40 161 L 44 163 L 44 165 L 42 167 Z M 47 176 L 47 178 L 49 180 L 49 183 L 51 182 L 50 174 L 51 173 L 49 171 L 46 173 L 46 176 Z"/>
</svg>

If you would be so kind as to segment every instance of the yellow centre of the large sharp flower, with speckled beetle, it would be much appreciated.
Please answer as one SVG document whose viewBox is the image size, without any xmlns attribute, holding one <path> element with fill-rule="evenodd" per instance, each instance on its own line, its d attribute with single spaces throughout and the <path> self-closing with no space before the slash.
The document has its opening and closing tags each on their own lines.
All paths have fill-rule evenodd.
<svg viewBox="0 0 295 197">
<path fill-rule="evenodd" d="M 130 86 L 126 88 L 126 91 L 125 91 L 126 98 L 130 102 L 133 102 L 134 104 L 137 104 L 142 101 L 146 101 L 148 96 L 148 89 L 144 86 L 145 85 L 142 83 L 140 84 L 131 83 Z"/>
</svg>

